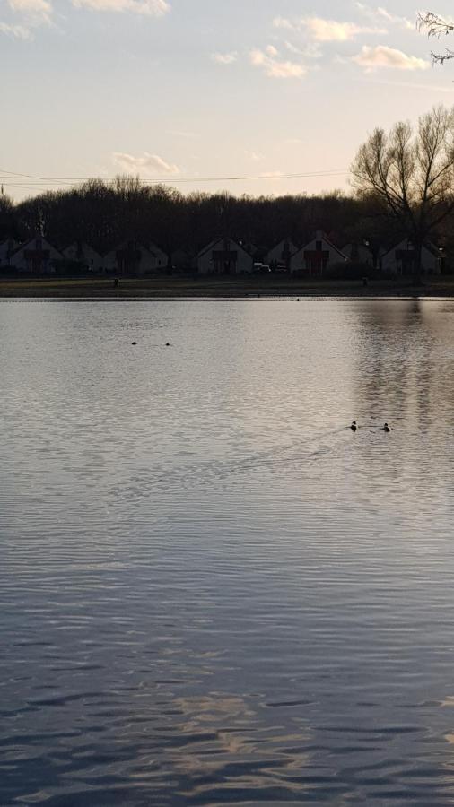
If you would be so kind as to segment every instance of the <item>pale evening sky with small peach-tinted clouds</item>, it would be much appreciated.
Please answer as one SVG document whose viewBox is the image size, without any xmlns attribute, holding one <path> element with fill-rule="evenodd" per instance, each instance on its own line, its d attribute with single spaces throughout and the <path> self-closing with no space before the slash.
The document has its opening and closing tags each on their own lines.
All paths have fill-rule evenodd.
<svg viewBox="0 0 454 807">
<path fill-rule="evenodd" d="M 437 43 L 417 11 L 412 0 L 0 0 L 4 192 L 123 173 L 185 193 L 348 190 L 376 126 L 454 103 L 454 62 L 432 66 Z"/>
</svg>

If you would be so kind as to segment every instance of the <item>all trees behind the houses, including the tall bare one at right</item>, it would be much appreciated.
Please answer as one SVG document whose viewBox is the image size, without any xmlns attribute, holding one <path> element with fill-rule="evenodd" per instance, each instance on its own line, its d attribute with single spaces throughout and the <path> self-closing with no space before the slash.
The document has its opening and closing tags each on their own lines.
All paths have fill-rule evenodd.
<svg viewBox="0 0 454 807">
<path fill-rule="evenodd" d="M 101 255 L 125 240 L 155 242 L 172 256 L 196 254 L 229 236 L 265 252 L 282 239 L 297 246 L 323 230 L 337 247 L 371 251 L 411 239 L 415 273 L 423 244 L 454 254 L 454 108 L 433 108 L 415 126 L 377 128 L 352 164 L 352 191 L 322 195 L 234 196 L 150 186 L 129 176 L 91 179 L 13 204 L 0 195 L 0 241 L 44 235 L 57 248 L 86 242 Z"/>
</svg>

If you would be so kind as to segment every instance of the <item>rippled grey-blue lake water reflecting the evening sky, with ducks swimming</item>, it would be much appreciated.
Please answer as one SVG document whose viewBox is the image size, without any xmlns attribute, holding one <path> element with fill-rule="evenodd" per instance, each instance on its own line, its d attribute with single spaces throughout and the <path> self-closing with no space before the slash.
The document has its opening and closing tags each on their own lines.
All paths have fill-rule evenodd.
<svg viewBox="0 0 454 807">
<path fill-rule="evenodd" d="M 454 302 L 0 344 L 0 803 L 454 804 Z"/>
</svg>

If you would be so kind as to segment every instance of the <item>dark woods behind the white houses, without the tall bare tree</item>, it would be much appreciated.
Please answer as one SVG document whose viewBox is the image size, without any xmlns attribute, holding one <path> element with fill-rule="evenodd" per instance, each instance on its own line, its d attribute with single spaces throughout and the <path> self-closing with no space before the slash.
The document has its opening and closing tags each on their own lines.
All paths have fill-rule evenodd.
<svg viewBox="0 0 454 807">
<path fill-rule="evenodd" d="M 0 196 L 0 240 L 20 241 L 41 233 L 56 247 L 85 241 L 100 254 L 127 239 L 155 242 L 171 254 L 196 255 L 219 236 L 258 248 L 290 238 L 306 243 L 324 230 L 342 247 L 351 241 L 389 243 L 398 228 L 380 221 L 370 200 L 334 191 L 322 195 L 235 196 L 189 193 L 139 178 L 92 179 L 79 187 L 49 191 L 13 204 Z"/>
</svg>

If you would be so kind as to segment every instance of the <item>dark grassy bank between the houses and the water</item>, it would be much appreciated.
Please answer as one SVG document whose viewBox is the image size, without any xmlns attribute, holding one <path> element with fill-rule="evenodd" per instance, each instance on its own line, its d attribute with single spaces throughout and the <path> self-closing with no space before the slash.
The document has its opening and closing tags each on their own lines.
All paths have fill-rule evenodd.
<svg viewBox="0 0 454 807">
<path fill-rule="evenodd" d="M 125 278 L 118 286 L 112 278 L 22 278 L 0 279 L 0 297 L 36 298 L 159 298 L 159 297 L 454 297 L 454 277 L 428 278 L 415 287 L 411 281 L 301 280 L 287 275 L 241 275 L 239 277 Z"/>
</svg>

